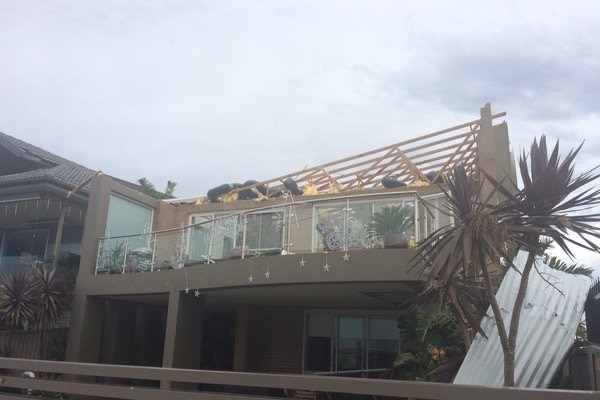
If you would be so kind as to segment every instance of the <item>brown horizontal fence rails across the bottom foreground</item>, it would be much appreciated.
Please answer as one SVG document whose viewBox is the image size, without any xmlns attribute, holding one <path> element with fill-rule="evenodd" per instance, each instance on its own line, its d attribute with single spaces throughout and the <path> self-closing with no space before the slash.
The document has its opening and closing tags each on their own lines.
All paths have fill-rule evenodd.
<svg viewBox="0 0 600 400">
<path fill-rule="evenodd" d="M 281 397 L 257 396 L 239 393 L 239 388 L 275 388 L 368 395 L 371 398 L 419 398 L 432 400 L 558 400 L 598 399 L 600 393 L 591 391 L 489 388 L 482 386 L 452 385 L 427 382 L 407 382 L 383 379 L 342 378 L 309 375 L 280 375 L 242 372 L 222 372 L 175 368 L 137 367 L 125 365 L 89 364 L 74 362 L 39 361 L 0 358 L 0 368 L 12 371 L 34 371 L 37 374 L 52 373 L 69 376 L 69 380 L 27 379 L 16 375 L 4 375 L 0 390 L 44 390 L 71 395 L 90 395 L 111 399 L 128 400 L 183 400 L 183 399 L 277 399 Z M 96 383 L 95 378 L 120 378 L 131 380 L 154 380 L 161 388 L 132 384 Z M 106 380 L 106 379 L 104 379 Z M 187 383 L 187 389 L 169 388 L 170 382 Z M 190 390 L 190 385 L 219 385 L 228 387 L 226 392 Z M 3 394 L 2 398 L 22 399 L 18 395 Z"/>
</svg>

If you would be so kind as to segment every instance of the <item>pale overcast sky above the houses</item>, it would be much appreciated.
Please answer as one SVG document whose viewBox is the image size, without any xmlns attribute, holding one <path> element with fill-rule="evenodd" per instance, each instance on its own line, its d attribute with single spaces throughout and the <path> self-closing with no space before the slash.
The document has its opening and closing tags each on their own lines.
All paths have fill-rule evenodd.
<svg viewBox="0 0 600 400">
<path fill-rule="evenodd" d="M 0 0 L 0 131 L 180 197 L 506 111 L 600 153 L 600 2 Z M 592 255 L 582 256 L 600 266 Z"/>
</svg>

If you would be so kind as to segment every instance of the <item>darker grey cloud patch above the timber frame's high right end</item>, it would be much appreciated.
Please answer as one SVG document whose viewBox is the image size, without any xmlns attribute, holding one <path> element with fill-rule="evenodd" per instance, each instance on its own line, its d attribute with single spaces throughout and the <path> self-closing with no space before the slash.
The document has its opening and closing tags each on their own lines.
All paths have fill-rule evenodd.
<svg viewBox="0 0 600 400">
<path fill-rule="evenodd" d="M 419 62 L 422 68 L 392 75 L 385 90 L 396 98 L 421 99 L 460 112 L 487 101 L 519 110 L 527 118 L 568 118 L 599 111 L 597 57 L 450 44 Z"/>
</svg>

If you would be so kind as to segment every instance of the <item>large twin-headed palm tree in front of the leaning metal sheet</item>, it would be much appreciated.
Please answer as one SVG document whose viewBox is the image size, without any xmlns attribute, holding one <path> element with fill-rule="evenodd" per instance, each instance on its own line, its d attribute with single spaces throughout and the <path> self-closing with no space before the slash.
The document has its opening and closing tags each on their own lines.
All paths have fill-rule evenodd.
<svg viewBox="0 0 600 400">
<path fill-rule="evenodd" d="M 455 224 L 433 232 L 416 249 L 414 265 L 427 272 L 424 293 L 438 292 L 452 299 L 454 307 L 464 314 L 470 325 L 481 332 L 472 310 L 474 301 L 459 299 L 456 277 L 481 277 L 485 297 L 489 302 L 504 353 L 504 385 L 514 386 L 515 346 L 519 317 L 536 255 L 544 249 L 544 240 L 551 239 L 573 256 L 571 245 L 599 251 L 592 239 L 600 238 L 598 214 L 589 208 L 600 204 L 600 190 L 590 189 L 598 178 L 591 172 L 574 177 L 573 161 L 581 146 L 561 160 L 558 143 L 550 156 L 546 138 L 534 140 L 529 156 L 519 157 L 523 188 L 498 182 L 483 171 L 494 190 L 481 199 L 481 183 L 476 185 L 462 166 L 454 168 L 447 178 L 448 210 Z M 509 182 L 510 183 L 510 182 Z M 511 190 L 512 189 L 512 190 Z M 501 193 L 506 200 L 488 204 L 493 195 Z M 571 236 L 568 234 L 571 233 Z M 529 252 L 521 273 L 521 281 L 507 333 L 505 321 L 495 298 L 492 275 L 502 270 L 502 260 L 510 260 L 515 249 Z M 483 333 L 483 332 L 481 332 Z"/>
</svg>

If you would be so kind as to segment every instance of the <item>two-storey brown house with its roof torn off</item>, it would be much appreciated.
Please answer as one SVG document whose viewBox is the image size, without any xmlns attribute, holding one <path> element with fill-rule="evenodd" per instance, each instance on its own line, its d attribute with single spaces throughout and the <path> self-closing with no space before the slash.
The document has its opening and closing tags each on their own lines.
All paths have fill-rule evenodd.
<svg viewBox="0 0 600 400">
<path fill-rule="evenodd" d="M 412 247 L 452 223 L 440 177 L 459 163 L 476 177 L 514 174 L 504 115 L 488 104 L 452 128 L 194 199 L 94 178 L 68 358 L 340 375 L 390 367 L 397 319 L 422 282 L 408 268 Z M 382 238 L 377 220 L 398 212 L 402 229 L 388 229 L 398 240 Z"/>
</svg>

